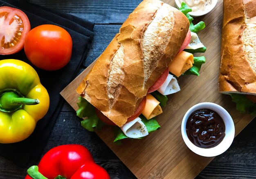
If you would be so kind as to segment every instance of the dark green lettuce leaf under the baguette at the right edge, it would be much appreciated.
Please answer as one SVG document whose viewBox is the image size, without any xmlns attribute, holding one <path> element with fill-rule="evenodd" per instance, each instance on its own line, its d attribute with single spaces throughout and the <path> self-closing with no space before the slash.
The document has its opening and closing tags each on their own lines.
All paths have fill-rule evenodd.
<svg viewBox="0 0 256 179">
<path fill-rule="evenodd" d="M 232 101 L 236 103 L 236 109 L 242 113 L 249 111 L 249 114 L 256 115 L 256 103 L 247 99 L 243 94 L 230 94 Z"/>
</svg>

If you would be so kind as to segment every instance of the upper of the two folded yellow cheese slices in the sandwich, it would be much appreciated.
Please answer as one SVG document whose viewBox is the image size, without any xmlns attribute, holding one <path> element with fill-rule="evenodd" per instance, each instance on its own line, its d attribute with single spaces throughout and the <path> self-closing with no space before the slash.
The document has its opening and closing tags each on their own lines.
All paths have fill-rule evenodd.
<svg viewBox="0 0 256 179">
<path fill-rule="evenodd" d="M 179 77 L 182 73 L 189 70 L 194 63 L 194 57 L 192 53 L 181 51 L 169 65 L 169 72 Z"/>
</svg>

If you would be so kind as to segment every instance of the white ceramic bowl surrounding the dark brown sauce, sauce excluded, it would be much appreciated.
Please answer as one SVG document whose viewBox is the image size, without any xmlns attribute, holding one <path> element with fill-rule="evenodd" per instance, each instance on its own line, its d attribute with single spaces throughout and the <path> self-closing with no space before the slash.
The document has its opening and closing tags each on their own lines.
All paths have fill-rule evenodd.
<svg viewBox="0 0 256 179">
<path fill-rule="evenodd" d="M 200 148 L 198 146 L 195 146 L 189 140 L 186 134 L 186 122 L 189 116 L 198 109 L 211 109 L 213 111 L 216 111 L 220 115 L 220 117 L 223 119 L 225 123 L 225 128 L 226 128 L 225 137 L 217 146 L 214 146 L 212 148 Z M 186 146 L 188 146 L 191 151 L 193 151 L 198 155 L 202 155 L 204 157 L 213 157 L 213 156 L 217 156 L 224 153 L 231 146 L 235 137 L 235 126 L 229 113 L 220 105 L 217 105 L 215 103 L 199 103 L 197 105 L 192 106 L 186 112 L 181 124 L 181 133 Z"/>
</svg>

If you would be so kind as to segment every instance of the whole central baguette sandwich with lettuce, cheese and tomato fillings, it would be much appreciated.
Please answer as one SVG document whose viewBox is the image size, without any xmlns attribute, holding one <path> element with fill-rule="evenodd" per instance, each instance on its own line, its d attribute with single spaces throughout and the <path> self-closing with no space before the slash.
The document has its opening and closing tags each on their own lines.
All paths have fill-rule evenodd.
<svg viewBox="0 0 256 179">
<path fill-rule="evenodd" d="M 93 131 L 99 118 L 118 127 L 116 140 L 159 129 L 154 117 L 162 113 L 165 95 L 180 90 L 175 76 L 199 75 L 205 60 L 192 54 L 206 48 L 196 35 L 204 23 L 193 25 L 190 11 L 186 4 L 179 11 L 160 0 L 139 4 L 76 89 L 83 127 Z"/>
</svg>

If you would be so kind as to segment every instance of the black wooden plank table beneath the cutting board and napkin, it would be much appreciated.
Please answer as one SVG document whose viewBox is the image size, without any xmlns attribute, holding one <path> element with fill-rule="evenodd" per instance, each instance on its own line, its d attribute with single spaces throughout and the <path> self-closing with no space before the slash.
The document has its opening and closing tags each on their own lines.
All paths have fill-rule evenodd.
<svg viewBox="0 0 256 179">
<path fill-rule="evenodd" d="M 94 40 L 86 59 L 89 65 L 103 52 L 129 13 L 141 0 L 29 0 L 29 2 L 95 22 Z M 84 68 L 81 68 L 80 72 L 82 70 Z M 83 129 L 79 121 L 75 111 L 65 103 L 43 149 L 43 154 L 54 146 L 82 144 L 90 150 L 97 164 L 108 171 L 112 179 L 135 179 L 132 172 L 108 146 L 95 133 Z M 22 179 L 26 175 L 26 170 L 0 157 L 0 179 Z M 256 178 L 256 120 L 253 120 L 234 139 L 225 153 L 213 159 L 196 178 Z"/>
</svg>

